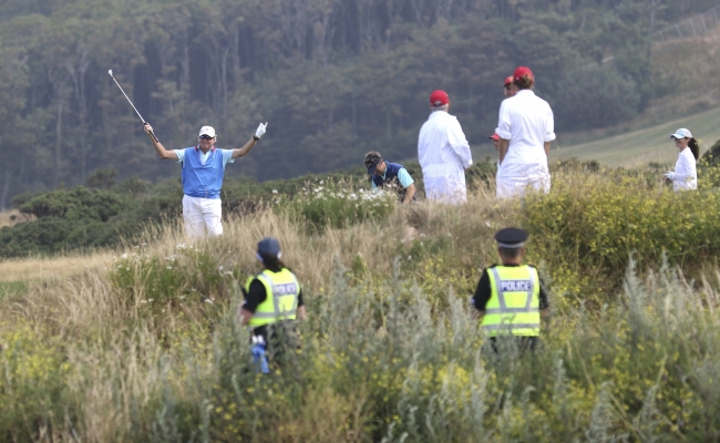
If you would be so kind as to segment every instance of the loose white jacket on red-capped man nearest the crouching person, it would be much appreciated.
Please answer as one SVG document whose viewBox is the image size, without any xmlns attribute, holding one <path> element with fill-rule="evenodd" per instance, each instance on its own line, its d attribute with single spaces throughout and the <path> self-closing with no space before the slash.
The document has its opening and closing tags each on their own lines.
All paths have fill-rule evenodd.
<svg viewBox="0 0 720 443">
<path fill-rule="evenodd" d="M 465 169 L 473 164 L 470 144 L 460 122 L 444 111 L 434 111 L 420 130 L 418 159 L 423 174 L 435 165 L 455 165 Z"/>
</svg>

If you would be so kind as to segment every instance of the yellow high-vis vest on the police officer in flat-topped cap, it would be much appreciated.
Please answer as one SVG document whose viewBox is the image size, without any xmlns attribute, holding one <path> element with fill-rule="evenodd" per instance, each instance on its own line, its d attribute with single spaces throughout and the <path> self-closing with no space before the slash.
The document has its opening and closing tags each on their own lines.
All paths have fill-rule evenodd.
<svg viewBox="0 0 720 443">
<path fill-rule="evenodd" d="M 539 277 L 532 266 L 487 269 L 491 296 L 481 326 L 491 337 L 539 334 Z"/>
</svg>

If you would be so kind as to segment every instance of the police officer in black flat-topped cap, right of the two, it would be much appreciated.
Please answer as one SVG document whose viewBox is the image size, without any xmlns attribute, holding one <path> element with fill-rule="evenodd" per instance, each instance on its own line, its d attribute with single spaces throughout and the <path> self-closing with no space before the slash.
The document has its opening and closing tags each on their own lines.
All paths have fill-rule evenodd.
<svg viewBox="0 0 720 443">
<path fill-rule="evenodd" d="M 495 351 L 496 340 L 503 334 L 518 337 L 521 347 L 535 349 L 541 317 L 547 316 L 548 302 L 537 269 L 522 265 L 527 233 L 506 228 L 495 239 L 502 265 L 483 271 L 472 303 Z"/>
</svg>

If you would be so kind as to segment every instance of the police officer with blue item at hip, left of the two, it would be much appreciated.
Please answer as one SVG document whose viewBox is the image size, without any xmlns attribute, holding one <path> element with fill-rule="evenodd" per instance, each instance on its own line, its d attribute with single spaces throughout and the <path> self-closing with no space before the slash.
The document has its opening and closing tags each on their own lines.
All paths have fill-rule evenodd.
<svg viewBox="0 0 720 443">
<path fill-rule="evenodd" d="M 306 316 L 300 282 L 280 260 L 281 255 L 275 238 L 267 237 L 257 244 L 256 257 L 264 269 L 248 278 L 245 302 L 238 311 L 241 324 L 251 329 L 254 354 L 258 349 L 267 351 L 270 362 L 299 347 L 295 324 Z M 268 371 L 264 368 L 263 372 Z"/>
</svg>

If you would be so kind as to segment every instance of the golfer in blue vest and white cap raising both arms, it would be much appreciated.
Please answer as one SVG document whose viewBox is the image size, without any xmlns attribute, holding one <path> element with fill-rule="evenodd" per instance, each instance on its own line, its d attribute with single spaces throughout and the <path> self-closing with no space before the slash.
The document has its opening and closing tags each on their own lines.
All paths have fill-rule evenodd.
<svg viewBox="0 0 720 443">
<path fill-rule="evenodd" d="M 220 188 L 225 165 L 247 155 L 265 134 L 267 123 L 260 123 L 255 135 L 238 150 L 218 150 L 213 126 L 200 127 L 197 146 L 166 151 L 152 136 L 153 127 L 145 123 L 143 130 L 150 135 L 153 147 L 163 159 L 174 159 L 183 168 L 183 219 L 185 234 L 191 238 L 214 237 L 223 234 Z"/>
</svg>

